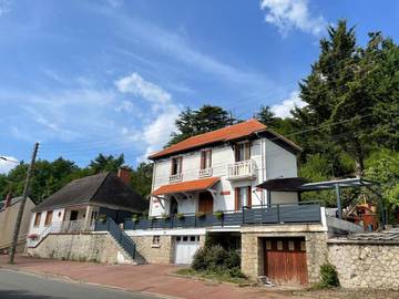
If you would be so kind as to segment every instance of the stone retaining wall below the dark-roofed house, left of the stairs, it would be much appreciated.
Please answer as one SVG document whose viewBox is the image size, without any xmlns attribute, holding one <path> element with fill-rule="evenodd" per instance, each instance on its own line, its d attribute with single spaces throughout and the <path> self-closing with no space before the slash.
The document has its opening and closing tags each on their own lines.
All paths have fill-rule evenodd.
<svg viewBox="0 0 399 299">
<path fill-rule="evenodd" d="M 50 234 L 28 255 L 41 258 L 95 261 L 103 264 L 131 262 L 109 234 Z"/>
</svg>

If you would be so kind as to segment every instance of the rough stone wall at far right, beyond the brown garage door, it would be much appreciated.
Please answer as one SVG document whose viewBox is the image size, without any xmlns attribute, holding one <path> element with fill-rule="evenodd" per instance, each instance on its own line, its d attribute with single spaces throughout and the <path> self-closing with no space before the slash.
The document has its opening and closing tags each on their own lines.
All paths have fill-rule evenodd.
<svg viewBox="0 0 399 299">
<path fill-rule="evenodd" d="M 329 240 L 329 261 L 344 288 L 399 289 L 399 244 Z"/>
</svg>

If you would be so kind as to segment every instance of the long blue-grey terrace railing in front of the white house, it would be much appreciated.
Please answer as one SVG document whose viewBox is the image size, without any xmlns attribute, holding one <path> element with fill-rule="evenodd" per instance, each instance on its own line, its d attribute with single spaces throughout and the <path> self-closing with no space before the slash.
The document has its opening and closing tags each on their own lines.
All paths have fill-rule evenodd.
<svg viewBox="0 0 399 299">
<path fill-rule="evenodd" d="M 195 227 L 228 227 L 242 225 L 320 223 L 320 205 L 295 203 L 272 206 L 244 207 L 211 214 L 172 215 L 167 218 L 125 219 L 124 229 L 170 229 Z"/>
</svg>

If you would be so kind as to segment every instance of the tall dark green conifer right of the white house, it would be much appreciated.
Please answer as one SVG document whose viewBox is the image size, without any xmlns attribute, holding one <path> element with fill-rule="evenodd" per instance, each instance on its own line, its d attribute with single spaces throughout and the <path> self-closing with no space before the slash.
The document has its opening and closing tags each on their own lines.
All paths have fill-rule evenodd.
<svg viewBox="0 0 399 299">
<path fill-rule="evenodd" d="M 328 29 L 320 41 L 320 55 L 311 73 L 300 84 L 300 97 L 308 104 L 294 116 L 301 128 L 319 127 L 315 144 L 339 145 L 355 162 L 357 175 L 364 173 L 364 159 L 371 148 L 370 134 L 376 126 L 374 71 L 376 51 L 382 40 L 371 34 L 366 49 L 356 45 L 355 29 L 346 21 Z M 376 82 L 375 82 L 376 83 Z"/>
</svg>

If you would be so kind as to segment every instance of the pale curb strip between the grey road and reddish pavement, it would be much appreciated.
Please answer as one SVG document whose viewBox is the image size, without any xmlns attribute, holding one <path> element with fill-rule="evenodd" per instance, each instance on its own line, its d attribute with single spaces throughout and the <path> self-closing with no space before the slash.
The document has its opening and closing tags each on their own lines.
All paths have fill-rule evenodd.
<svg viewBox="0 0 399 299">
<path fill-rule="evenodd" d="M 153 296 L 153 297 L 157 297 L 157 298 L 162 298 L 162 299 L 184 299 L 182 297 L 163 295 L 163 293 L 158 293 L 158 292 L 132 290 L 132 289 L 126 289 L 126 288 L 115 287 L 115 286 L 110 286 L 110 285 L 101 285 L 101 283 L 96 283 L 96 282 L 76 280 L 76 279 L 72 279 L 69 276 L 64 276 L 64 275 L 55 275 L 55 274 L 47 274 L 47 272 L 34 271 L 34 270 L 27 270 L 27 269 L 21 269 L 21 268 L 14 267 L 14 266 L 0 266 L 0 269 L 6 269 L 9 271 L 16 271 L 16 272 L 23 272 L 27 275 L 38 276 L 38 277 L 42 277 L 42 278 L 51 278 L 51 279 L 66 281 L 66 282 L 71 282 L 71 283 L 82 283 L 82 285 L 102 287 L 102 288 L 106 288 L 106 289 L 114 289 L 114 290 L 122 290 L 122 291 L 126 291 L 126 292 Z"/>
</svg>

